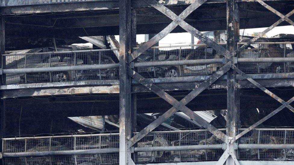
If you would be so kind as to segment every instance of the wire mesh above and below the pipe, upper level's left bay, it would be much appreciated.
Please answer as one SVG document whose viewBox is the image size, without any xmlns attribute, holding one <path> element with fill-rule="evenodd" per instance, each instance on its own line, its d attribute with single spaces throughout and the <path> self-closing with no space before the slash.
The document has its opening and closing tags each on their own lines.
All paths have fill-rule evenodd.
<svg viewBox="0 0 294 165">
<path fill-rule="evenodd" d="M 86 50 L 52 53 L 13 54 L 2 57 L 3 69 L 23 69 L 58 66 L 82 66 L 94 64 L 115 64 L 119 62 L 117 49 Z M 118 79 L 118 69 L 70 70 L 59 72 L 36 72 L 5 74 L 3 84 L 42 82 L 64 82 L 81 80 Z"/>
</svg>

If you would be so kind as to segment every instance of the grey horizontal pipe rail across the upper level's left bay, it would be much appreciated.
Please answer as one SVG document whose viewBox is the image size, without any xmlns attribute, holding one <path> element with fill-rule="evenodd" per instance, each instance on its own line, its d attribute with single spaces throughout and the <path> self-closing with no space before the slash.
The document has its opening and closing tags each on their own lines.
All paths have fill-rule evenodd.
<svg viewBox="0 0 294 165">
<path fill-rule="evenodd" d="M 55 66 L 55 67 L 41 67 L 41 68 L 17 68 L 17 69 L 3 69 L 3 74 L 13 73 L 36 73 L 36 72 L 59 72 L 59 71 L 73 71 L 73 70 L 91 70 L 91 69 L 113 69 L 118 68 L 119 64 L 99 64 L 99 65 L 78 65 L 78 66 Z"/>
</svg>

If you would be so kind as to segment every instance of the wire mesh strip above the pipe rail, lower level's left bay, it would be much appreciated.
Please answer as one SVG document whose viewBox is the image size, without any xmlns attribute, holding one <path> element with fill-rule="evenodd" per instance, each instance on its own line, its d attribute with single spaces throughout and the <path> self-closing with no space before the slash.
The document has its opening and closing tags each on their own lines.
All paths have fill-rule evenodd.
<svg viewBox="0 0 294 165">
<path fill-rule="evenodd" d="M 4 138 L 2 142 L 5 153 L 105 149 L 119 148 L 119 134 Z"/>
</svg>

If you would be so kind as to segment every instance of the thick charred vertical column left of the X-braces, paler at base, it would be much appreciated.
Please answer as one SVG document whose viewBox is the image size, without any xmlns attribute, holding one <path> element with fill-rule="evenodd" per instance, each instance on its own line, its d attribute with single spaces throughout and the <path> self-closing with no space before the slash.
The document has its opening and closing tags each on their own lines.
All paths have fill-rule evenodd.
<svg viewBox="0 0 294 165">
<path fill-rule="evenodd" d="M 120 146 L 119 146 L 119 164 L 129 165 L 134 164 L 131 159 L 131 149 L 127 146 L 127 141 L 132 136 L 132 121 L 131 121 L 131 77 L 127 74 L 128 63 L 127 59 L 132 50 L 132 12 L 131 1 L 119 1 L 119 28 L 120 28 Z"/>
</svg>

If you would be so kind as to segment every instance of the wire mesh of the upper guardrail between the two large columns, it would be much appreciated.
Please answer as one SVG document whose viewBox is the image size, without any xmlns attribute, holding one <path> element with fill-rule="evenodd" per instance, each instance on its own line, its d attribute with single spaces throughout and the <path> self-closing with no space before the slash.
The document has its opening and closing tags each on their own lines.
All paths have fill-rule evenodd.
<svg viewBox="0 0 294 165">
<path fill-rule="evenodd" d="M 222 44 L 226 48 L 225 44 Z M 191 46 L 152 47 L 141 54 L 137 62 L 180 61 L 222 58 L 205 44 Z M 183 66 L 138 67 L 136 72 L 145 78 L 170 78 L 180 76 L 211 75 L 223 64 L 199 64 Z"/>
</svg>

